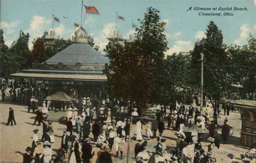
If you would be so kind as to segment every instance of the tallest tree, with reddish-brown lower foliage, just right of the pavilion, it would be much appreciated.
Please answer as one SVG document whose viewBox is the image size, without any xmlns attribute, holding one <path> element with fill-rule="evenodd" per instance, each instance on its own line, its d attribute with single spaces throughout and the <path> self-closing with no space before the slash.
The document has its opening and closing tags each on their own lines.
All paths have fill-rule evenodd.
<svg viewBox="0 0 256 163">
<path fill-rule="evenodd" d="M 105 50 L 110 59 L 105 74 L 112 95 L 136 100 L 138 109 L 153 102 L 158 95 L 156 87 L 160 85 L 167 50 L 165 23 L 160 20 L 158 10 L 148 8 L 140 24 L 134 42 L 120 45 L 110 41 Z"/>
</svg>

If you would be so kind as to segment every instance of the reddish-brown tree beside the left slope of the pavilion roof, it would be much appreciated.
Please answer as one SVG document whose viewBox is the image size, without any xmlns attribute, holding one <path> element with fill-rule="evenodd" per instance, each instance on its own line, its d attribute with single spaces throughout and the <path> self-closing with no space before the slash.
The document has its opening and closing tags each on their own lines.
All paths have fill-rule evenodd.
<svg viewBox="0 0 256 163">
<path fill-rule="evenodd" d="M 37 38 L 35 41 L 33 41 L 33 49 L 31 55 L 33 63 L 42 63 L 47 59 L 44 41 L 42 38 Z"/>
</svg>

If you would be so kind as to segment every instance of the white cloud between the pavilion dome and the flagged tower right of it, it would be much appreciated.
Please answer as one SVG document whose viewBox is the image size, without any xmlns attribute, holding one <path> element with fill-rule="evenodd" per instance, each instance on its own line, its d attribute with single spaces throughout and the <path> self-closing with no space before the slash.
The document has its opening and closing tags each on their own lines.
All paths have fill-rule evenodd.
<svg viewBox="0 0 256 163">
<path fill-rule="evenodd" d="M 106 45 L 109 43 L 109 40 L 107 40 L 107 37 L 109 37 L 109 34 L 112 33 L 112 30 L 116 28 L 115 23 L 107 23 L 104 25 L 103 30 L 99 32 L 98 36 L 95 37 L 95 45 L 99 46 L 99 52 L 104 53 L 104 49 L 106 48 Z"/>
</svg>

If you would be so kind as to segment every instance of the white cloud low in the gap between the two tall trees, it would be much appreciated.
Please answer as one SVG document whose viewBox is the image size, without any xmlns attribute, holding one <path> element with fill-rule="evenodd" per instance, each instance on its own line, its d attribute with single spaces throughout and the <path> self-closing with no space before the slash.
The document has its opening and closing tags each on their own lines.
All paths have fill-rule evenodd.
<svg viewBox="0 0 256 163">
<path fill-rule="evenodd" d="M 178 40 L 175 42 L 172 48 L 170 48 L 166 55 L 172 55 L 173 53 L 187 52 L 193 48 L 191 41 Z"/>
</svg>

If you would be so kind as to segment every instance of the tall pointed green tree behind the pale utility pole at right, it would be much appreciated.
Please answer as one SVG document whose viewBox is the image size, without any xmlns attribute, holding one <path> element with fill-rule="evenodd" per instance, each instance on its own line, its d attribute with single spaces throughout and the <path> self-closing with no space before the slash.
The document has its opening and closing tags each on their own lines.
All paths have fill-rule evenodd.
<svg viewBox="0 0 256 163">
<path fill-rule="evenodd" d="M 221 100 L 221 97 L 230 88 L 228 74 L 228 55 L 223 44 L 223 34 L 214 22 L 207 26 L 206 38 L 198 41 L 191 52 L 193 68 L 192 80 L 194 87 L 200 88 L 201 53 L 204 54 L 204 95 L 210 98 L 212 104 Z M 217 124 L 217 110 L 213 105 L 214 120 Z"/>
</svg>

